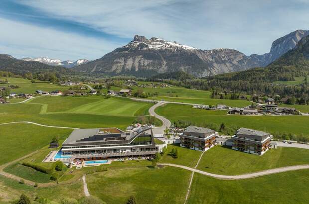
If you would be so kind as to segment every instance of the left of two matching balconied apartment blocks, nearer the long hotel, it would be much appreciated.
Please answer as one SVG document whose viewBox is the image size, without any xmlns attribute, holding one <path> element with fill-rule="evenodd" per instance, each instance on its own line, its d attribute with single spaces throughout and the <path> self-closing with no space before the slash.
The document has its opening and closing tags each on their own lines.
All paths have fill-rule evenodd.
<svg viewBox="0 0 309 204">
<path fill-rule="evenodd" d="M 190 148 L 198 151 L 207 151 L 216 143 L 218 132 L 204 128 L 190 125 L 184 129 L 180 137 L 180 146 Z"/>
</svg>

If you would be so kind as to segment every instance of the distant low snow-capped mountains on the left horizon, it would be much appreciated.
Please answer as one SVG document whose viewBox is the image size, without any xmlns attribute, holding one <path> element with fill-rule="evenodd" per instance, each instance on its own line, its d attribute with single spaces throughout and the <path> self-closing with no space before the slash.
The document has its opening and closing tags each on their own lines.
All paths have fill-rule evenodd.
<svg viewBox="0 0 309 204">
<path fill-rule="evenodd" d="M 81 64 L 85 64 L 88 62 L 91 62 L 91 60 L 87 60 L 87 59 L 79 59 L 76 61 L 70 61 L 70 60 L 65 60 L 65 61 L 61 61 L 61 60 L 54 60 L 54 59 L 49 59 L 46 57 L 39 57 L 39 58 L 22 58 L 20 59 L 22 61 L 35 61 L 35 62 L 40 62 L 43 64 L 47 64 L 47 65 L 52 65 L 52 66 L 62 66 L 65 68 L 72 68 L 72 67 L 76 67 L 79 66 Z"/>
</svg>

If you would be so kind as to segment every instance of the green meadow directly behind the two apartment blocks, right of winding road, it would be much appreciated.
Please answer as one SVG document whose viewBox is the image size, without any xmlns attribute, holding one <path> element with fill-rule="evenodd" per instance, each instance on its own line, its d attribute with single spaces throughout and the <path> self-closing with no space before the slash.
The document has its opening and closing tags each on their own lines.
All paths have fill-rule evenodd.
<svg viewBox="0 0 309 204">
<path fill-rule="evenodd" d="M 202 109 L 192 110 L 194 116 L 188 115 L 187 111 L 190 106 L 181 104 L 166 104 L 159 106 L 155 112 L 166 116 L 171 121 L 186 120 L 196 125 L 205 126 L 205 123 L 216 123 L 220 125 L 222 122 L 227 126 L 247 127 L 271 133 L 292 133 L 304 134 L 309 136 L 308 116 L 290 115 L 290 116 L 244 116 L 244 115 L 215 115 Z M 192 108 L 193 109 L 193 108 Z M 207 115 L 207 114 L 208 115 Z"/>
</svg>

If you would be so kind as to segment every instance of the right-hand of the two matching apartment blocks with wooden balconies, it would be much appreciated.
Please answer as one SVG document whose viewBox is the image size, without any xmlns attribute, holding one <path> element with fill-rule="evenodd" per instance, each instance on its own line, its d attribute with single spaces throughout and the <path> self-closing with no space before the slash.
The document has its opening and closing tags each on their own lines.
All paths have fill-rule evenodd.
<svg viewBox="0 0 309 204">
<path fill-rule="evenodd" d="M 272 137 L 270 133 L 242 127 L 232 136 L 232 149 L 263 155 L 267 150 L 271 149 Z"/>
</svg>

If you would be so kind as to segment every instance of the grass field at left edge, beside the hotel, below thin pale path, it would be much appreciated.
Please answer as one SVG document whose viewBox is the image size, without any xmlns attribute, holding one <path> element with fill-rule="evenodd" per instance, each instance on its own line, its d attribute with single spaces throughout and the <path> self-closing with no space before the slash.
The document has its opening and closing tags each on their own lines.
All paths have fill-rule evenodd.
<svg viewBox="0 0 309 204">
<path fill-rule="evenodd" d="M 0 128 L 0 165 L 44 147 L 54 136 L 64 139 L 72 132 L 32 124 L 7 124 Z"/>
</svg>

